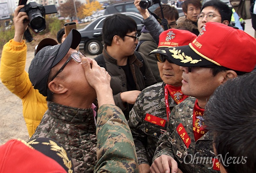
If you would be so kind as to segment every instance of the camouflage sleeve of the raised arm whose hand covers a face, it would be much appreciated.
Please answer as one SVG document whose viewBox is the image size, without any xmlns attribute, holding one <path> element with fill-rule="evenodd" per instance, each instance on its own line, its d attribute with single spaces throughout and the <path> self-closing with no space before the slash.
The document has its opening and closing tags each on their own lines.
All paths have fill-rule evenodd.
<svg viewBox="0 0 256 173">
<path fill-rule="evenodd" d="M 138 173 L 131 130 L 119 107 L 104 104 L 97 117 L 97 164 L 94 172 Z"/>
</svg>

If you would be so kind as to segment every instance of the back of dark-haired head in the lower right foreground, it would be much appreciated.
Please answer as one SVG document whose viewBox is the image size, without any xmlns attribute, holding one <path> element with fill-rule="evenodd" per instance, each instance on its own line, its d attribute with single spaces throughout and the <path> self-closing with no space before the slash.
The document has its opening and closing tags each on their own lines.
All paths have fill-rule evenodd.
<svg viewBox="0 0 256 173">
<path fill-rule="evenodd" d="M 230 100 L 232 98 L 232 100 Z M 219 86 L 205 107 L 221 173 L 256 170 L 256 72 Z"/>
</svg>

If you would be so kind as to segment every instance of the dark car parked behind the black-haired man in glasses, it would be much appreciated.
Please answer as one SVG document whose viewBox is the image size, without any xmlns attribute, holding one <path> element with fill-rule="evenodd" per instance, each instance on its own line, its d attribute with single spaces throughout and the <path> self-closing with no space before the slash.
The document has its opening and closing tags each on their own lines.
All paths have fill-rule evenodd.
<svg viewBox="0 0 256 173">
<path fill-rule="evenodd" d="M 140 36 L 140 31 L 143 28 L 142 15 L 134 12 L 126 12 L 122 13 L 128 15 L 129 17 L 133 18 L 137 23 L 137 33 Z M 110 14 L 112 15 L 112 14 Z M 102 42 L 102 26 L 103 21 L 106 17 L 110 15 L 104 15 L 98 17 L 96 20 L 92 21 L 90 24 L 85 26 L 84 29 L 79 29 L 78 31 L 81 33 L 81 42 L 79 44 L 79 49 L 83 49 L 85 52 L 89 53 L 90 55 L 99 55 L 102 53 L 103 49 L 103 42 Z"/>
</svg>

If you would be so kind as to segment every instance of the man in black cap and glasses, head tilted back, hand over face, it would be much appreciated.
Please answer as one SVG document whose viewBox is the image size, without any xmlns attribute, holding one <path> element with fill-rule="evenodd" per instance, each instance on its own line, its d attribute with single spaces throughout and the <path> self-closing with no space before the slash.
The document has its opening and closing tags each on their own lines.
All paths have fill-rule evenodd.
<svg viewBox="0 0 256 173">
<path fill-rule="evenodd" d="M 136 172 L 134 142 L 125 116 L 114 105 L 111 76 L 96 61 L 76 51 L 80 40 L 80 33 L 72 29 L 63 43 L 44 47 L 32 60 L 29 79 L 34 88 L 47 97 L 48 110 L 30 140 L 46 137 L 58 141 L 70 153 L 76 173 L 90 173 L 102 167 Z M 98 115 L 93 102 L 99 105 Z M 118 140 L 116 136 L 120 136 Z M 112 139 L 118 145 L 109 147 L 107 142 Z M 129 152 L 120 153 L 119 146 L 126 147 Z M 120 154 L 111 155 L 115 152 Z M 97 158 L 100 159 L 98 166 Z M 115 162 L 107 161 L 111 158 Z"/>
</svg>

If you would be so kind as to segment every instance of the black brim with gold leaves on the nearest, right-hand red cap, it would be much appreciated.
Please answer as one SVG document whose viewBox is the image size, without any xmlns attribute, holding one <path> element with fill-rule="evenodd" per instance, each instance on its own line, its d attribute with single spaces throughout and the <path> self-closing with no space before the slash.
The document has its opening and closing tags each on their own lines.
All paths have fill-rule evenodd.
<svg viewBox="0 0 256 173">
<path fill-rule="evenodd" d="M 198 55 L 189 45 L 166 48 L 170 60 L 178 66 L 209 66 L 216 65 Z"/>
</svg>

